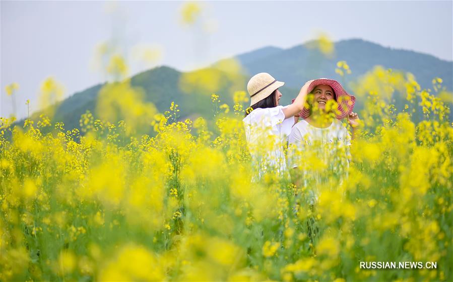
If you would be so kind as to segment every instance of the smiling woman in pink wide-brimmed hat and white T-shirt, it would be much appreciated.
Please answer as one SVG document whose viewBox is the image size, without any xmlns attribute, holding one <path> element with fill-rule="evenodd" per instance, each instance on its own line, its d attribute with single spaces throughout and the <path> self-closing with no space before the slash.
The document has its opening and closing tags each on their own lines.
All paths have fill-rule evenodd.
<svg viewBox="0 0 453 282">
<path fill-rule="evenodd" d="M 354 131 L 359 125 L 358 115 L 352 112 L 355 97 L 349 95 L 338 81 L 327 78 L 312 80 L 307 91 L 308 107 L 304 107 L 300 112 L 302 120 L 292 127 L 288 138 L 291 166 L 293 168 L 300 166 L 299 171 L 303 169 L 302 175 L 297 175 L 294 182 L 296 185 L 306 186 L 310 179 L 330 177 L 331 172 L 343 179 L 349 166 L 351 136 L 341 120 L 347 118 L 354 136 Z M 304 166 L 304 160 L 310 157 L 322 161 L 323 167 L 326 168 L 324 172 L 329 173 Z M 295 171 L 297 170 L 293 172 Z M 300 178 L 303 178 L 303 183 L 300 182 Z M 313 191 L 310 193 L 313 202 L 317 199 L 317 193 Z"/>
</svg>

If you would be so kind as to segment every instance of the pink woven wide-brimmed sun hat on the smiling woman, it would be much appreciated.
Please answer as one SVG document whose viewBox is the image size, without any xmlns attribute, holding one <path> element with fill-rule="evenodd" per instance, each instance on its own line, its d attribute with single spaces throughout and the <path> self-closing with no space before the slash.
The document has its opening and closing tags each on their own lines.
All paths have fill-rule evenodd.
<svg viewBox="0 0 453 282">
<path fill-rule="evenodd" d="M 335 92 L 335 100 L 337 101 L 338 108 L 335 110 L 335 117 L 339 120 L 346 118 L 351 114 L 352 110 L 354 109 L 355 104 L 355 97 L 349 95 L 348 92 L 341 86 L 340 82 L 333 79 L 328 78 L 319 78 L 313 80 L 308 86 L 308 93 L 313 91 L 314 87 L 317 85 L 329 85 L 334 89 Z M 302 119 L 308 118 L 310 115 L 310 109 L 304 107 L 302 112 L 300 112 L 300 117 Z"/>
</svg>

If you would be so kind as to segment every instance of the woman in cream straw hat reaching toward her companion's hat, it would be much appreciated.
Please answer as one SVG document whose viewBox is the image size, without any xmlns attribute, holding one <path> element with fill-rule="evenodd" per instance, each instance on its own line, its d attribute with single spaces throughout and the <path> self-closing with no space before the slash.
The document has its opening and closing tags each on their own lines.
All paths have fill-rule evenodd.
<svg viewBox="0 0 453 282">
<path fill-rule="evenodd" d="M 248 81 L 250 108 L 242 121 L 252 163 L 258 166 L 258 176 L 269 169 L 272 173 L 285 173 L 283 148 L 295 123 L 294 116 L 304 108 L 309 82 L 300 89 L 293 104 L 283 107 L 279 105 L 282 93 L 278 88 L 284 82 L 266 72 L 258 73 Z"/>
</svg>

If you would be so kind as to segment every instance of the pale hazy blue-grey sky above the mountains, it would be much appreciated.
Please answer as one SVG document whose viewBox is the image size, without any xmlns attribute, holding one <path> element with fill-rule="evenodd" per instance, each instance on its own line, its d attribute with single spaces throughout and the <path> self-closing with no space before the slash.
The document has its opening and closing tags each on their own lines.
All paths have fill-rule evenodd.
<svg viewBox="0 0 453 282">
<path fill-rule="evenodd" d="M 452 3 L 421 1 L 201 2 L 192 27 L 180 21 L 182 2 L 0 2 L 1 113 L 12 113 L 5 86 L 18 82 L 19 117 L 25 101 L 38 110 L 40 83 L 53 76 L 65 96 L 104 81 L 93 62 L 96 46 L 114 40 L 131 74 L 156 65 L 179 70 L 273 45 L 288 48 L 318 32 L 334 41 L 362 38 L 452 60 Z M 159 46 L 154 64 L 134 60 L 138 45 Z"/>
</svg>

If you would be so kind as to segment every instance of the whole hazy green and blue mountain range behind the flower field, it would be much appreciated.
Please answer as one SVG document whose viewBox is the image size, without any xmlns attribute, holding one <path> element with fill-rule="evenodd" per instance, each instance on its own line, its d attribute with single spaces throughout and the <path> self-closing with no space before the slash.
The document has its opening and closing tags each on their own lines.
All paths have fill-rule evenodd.
<svg viewBox="0 0 453 282">
<path fill-rule="evenodd" d="M 310 48 L 311 43 L 289 49 L 269 46 L 235 56 L 243 68 L 240 82 L 242 89 L 246 89 L 246 81 L 251 75 L 269 72 L 278 80 L 285 81 L 286 84 L 281 89 L 284 94 L 281 104 L 286 105 L 309 79 L 329 77 L 342 81 L 343 78 L 335 72 L 336 64 L 340 60 L 345 60 L 352 70 L 348 75 L 350 81 L 365 74 L 375 65 L 381 65 L 384 68 L 413 73 L 422 87 L 431 87 L 431 80 L 440 77 L 449 91 L 453 89 L 451 61 L 414 51 L 383 47 L 361 39 L 336 42 L 334 53 L 326 57 L 319 50 Z M 144 100 L 154 103 L 160 112 L 168 110 L 171 101 L 174 101 L 180 105 L 181 119 L 200 115 L 212 118 L 211 93 L 182 91 L 179 81 L 183 74 L 176 69 L 159 66 L 134 75 L 131 77 L 131 84 L 143 88 Z M 98 92 L 103 85 L 94 85 L 59 102 L 53 121 L 61 121 L 65 128 L 72 129 L 79 128 L 80 116 L 87 110 L 96 117 Z M 347 85 L 345 86 L 347 88 Z M 231 105 L 232 93 L 229 87 L 224 85 L 217 89 L 216 93 L 220 95 L 222 103 Z M 35 113 L 32 119 L 38 116 L 39 113 Z"/>
</svg>

